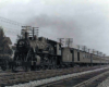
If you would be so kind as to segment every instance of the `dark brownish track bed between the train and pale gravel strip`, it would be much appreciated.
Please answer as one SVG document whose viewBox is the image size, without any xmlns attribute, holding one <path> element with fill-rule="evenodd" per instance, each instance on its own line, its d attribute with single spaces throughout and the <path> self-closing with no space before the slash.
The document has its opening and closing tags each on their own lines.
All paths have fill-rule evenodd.
<svg viewBox="0 0 109 87">
<path fill-rule="evenodd" d="M 12 86 L 19 85 L 24 83 L 29 83 L 29 80 L 41 80 L 45 78 L 56 77 L 60 75 L 66 75 L 83 71 L 89 71 L 98 69 L 99 66 L 95 67 L 72 67 L 72 69 L 61 69 L 61 70 L 46 70 L 46 71 L 37 71 L 37 72 L 21 72 L 21 73 L 8 73 L 4 75 L 0 75 L 0 85 L 1 87 L 4 86 Z M 101 66 L 105 67 L 105 66 Z"/>
</svg>

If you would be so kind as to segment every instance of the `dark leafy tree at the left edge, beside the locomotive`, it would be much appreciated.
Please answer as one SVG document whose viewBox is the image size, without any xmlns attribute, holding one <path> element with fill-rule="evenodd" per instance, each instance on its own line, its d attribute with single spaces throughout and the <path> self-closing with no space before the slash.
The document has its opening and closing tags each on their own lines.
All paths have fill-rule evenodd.
<svg viewBox="0 0 109 87">
<path fill-rule="evenodd" d="M 4 36 L 3 28 L 0 27 L 0 67 L 3 71 L 8 69 L 11 61 L 12 49 L 10 45 L 12 45 L 10 38 Z"/>
</svg>

